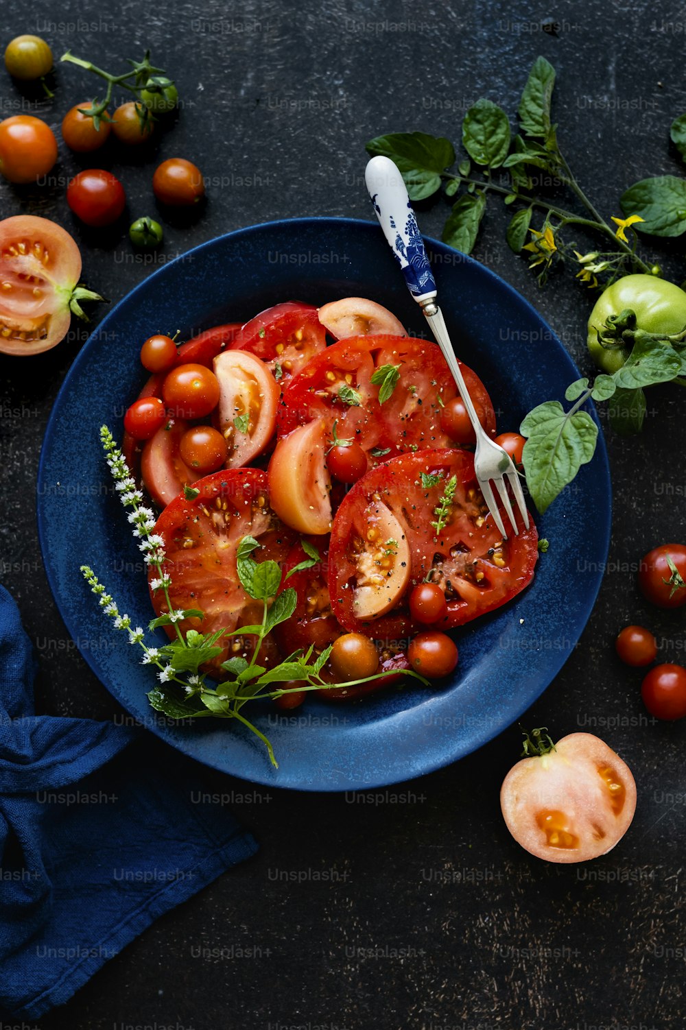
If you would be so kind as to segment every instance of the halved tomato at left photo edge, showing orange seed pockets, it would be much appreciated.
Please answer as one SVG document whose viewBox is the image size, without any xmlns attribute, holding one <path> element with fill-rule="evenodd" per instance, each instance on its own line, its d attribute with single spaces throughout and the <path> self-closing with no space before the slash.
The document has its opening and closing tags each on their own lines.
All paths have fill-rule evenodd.
<svg viewBox="0 0 686 1030">
<path fill-rule="evenodd" d="M 56 222 L 18 214 L 0 221 L 0 351 L 49 350 L 69 330 L 81 274 L 78 247 Z"/>
</svg>

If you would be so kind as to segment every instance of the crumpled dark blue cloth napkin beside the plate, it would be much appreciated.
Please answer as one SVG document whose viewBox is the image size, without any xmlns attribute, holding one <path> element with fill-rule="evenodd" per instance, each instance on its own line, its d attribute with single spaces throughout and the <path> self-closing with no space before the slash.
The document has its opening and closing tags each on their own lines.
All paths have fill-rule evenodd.
<svg viewBox="0 0 686 1030">
<path fill-rule="evenodd" d="M 256 850 L 191 803 L 199 766 L 150 735 L 34 715 L 34 673 L 0 586 L 0 1015 L 30 1019 Z"/>
</svg>

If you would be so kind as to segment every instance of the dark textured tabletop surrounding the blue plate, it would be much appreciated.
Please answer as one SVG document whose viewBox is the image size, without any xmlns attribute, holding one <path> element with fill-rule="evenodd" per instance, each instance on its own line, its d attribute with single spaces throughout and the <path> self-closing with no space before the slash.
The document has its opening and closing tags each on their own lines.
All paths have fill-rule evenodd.
<svg viewBox="0 0 686 1030">
<path fill-rule="evenodd" d="M 619 213 L 619 195 L 644 175 L 681 174 L 668 144 L 670 124 L 686 106 L 677 4 L 659 12 L 619 0 L 534 11 L 523 3 L 474 6 L 388 0 L 371 13 L 352 2 L 322 9 L 312 0 L 211 0 L 202 10 L 126 3 L 101 13 L 95 0 L 36 0 L 30 9 L 9 0 L 2 25 L 3 42 L 38 32 L 57 56 L 70 47 L 112 69 L 148 44 L 172 70 L 185 101 L 177 124 L 131 162 L 121 163 L 113 146 L 102 159 L 123 178 L 132 216 L 155 210 L 158 156 L 196 160 L 210 177 L 202 215 L 190 226 L 165 224 L 170 256 L 274 217 L 368 217 L 367 139 L 416 128 L 456 140 L 461 113 L 482 95 L 514 113 L 539 53 L 558 71 L 562 149 L 601 210 Z M 544 19 L 556 23 L 554 34 L 541 30 Z M 0 80 L 3 116 L 36 109 L 56 129 L 91 90 L 85 73 L 63 66 L 55 101 L 22 108 L 4 71 Z M 40 213 L 74 231 L 87 281 L 118 300 L 150 266 L 117 232 L 74 227 L 62 177 L 79 163 L 64 147 L 61 159 L 53 185 L 3 183 L 0 212 Z M 443 202 L 421 211 L 423 231 L 440 235 L 446 212 Z M 590 371 L 588 297 L 569 275 L 540 291 L 504 244 L 505 219 L 490 204 L 475 256 L 529 298 Z M 655 250 L 678 282 L 682 251 L 678 243 Z M 84 338 L 77 328 L 42 358 L 2 360 L 2 578 L 36 641 L 40 709 L 116 718 L 115 702 L 65 636 L 34 520 L 43 430 Z M 595 729 L 628 761 L 639 806 L 618 849 L 565 868 L 514 844 L 498 791 L 518 752 L 515 728 L 375 800 L 253 791 L 212 776 L 213 790 L 260 836 L 260 855 L 161 920 L 41 1027 L 683 1025 L 684 726 L 651 724 L 640 675 L 621 667 L 612 649 L 617 629 L 638 621 L 654 629 L 664 658 L 683 654 L 683 614 L 649 610 L 634 585 L 640 555 L 679 539 L 684 524 L 683 398 L 665 388 L 651 401 L 641 437 L 608 438 L 615 516 L 607 576 L 579 647 L 527 720 L 560 735 Z"/>
</svg>

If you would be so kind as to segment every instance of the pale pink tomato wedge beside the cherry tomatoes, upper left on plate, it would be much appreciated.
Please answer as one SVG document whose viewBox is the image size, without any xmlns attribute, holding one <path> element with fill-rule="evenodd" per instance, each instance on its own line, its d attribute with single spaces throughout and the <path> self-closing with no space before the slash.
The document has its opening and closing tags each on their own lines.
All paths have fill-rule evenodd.
<svg viewBox="0 0 686 1030">
<path fill-rule="evenodd" d="M 240 350 L 214 358 L 219 383 L 217 427 L 229 446 L 227 469 L 238 469 L 261 454 L 274 436 L 280 390 L 264 362 Z"/>
</svg>

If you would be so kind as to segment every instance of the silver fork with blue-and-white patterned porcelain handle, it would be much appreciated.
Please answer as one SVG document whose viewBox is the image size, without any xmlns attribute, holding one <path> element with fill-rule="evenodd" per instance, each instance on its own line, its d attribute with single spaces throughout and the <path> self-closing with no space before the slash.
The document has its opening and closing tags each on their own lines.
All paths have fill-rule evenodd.
<svg viewBox="0 0 686 1030">
<path fill-rule="evenodd" d="M 368 162 L 365 170 L 365 181 L 376 216 L 400 264 L 407 287 L 421 308 L 436 342 L 448 363 L 448 368 L 457 384 L 459 396 L 474 427 L 476 434 L 474 472 L 484 501 L 488 506 L 488 511 L 499 530 L 503 534 L 503 538 L 507 538 L 508 534 L 490 485 L 492 482 L 503 508 L 508 514 L 512 529 L 515 536 L 519 536 L 506 485 L 506 483 L 510 484 L 524 527 L 528 529 L 528 512 L 519 483 L 519 475 L 510 455 L 500 444 L 490 439 L 479 421 L 479 416 L 450 343 L 443 314 L 436 303 L 438 295 L 436 282 L 403 176 L 398 166 L 389 158 L 379 156 Z"/>
</svg>

